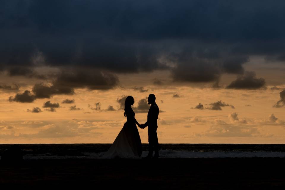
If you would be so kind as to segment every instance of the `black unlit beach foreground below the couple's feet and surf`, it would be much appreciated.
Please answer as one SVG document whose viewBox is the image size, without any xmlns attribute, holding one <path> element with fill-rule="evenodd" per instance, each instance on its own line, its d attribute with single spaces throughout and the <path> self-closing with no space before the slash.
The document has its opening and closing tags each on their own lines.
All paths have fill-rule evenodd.
<svg viewBox="0 0 285 190">
<path fill-rule="evenodd" d="M 0 161 L 0 183 L 41 189 L 283 189 L 284 169 L 284 158 Z"/>
</svg>

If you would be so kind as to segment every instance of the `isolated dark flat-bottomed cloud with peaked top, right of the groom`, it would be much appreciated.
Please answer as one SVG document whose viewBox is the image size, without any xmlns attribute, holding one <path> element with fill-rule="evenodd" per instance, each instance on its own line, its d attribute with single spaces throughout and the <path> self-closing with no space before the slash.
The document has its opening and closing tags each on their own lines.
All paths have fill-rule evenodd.
<svg viewBox="0 0 285 190">
<path fill-rule="evenodd" d="M 256 78 L 255 72 L 247 71 L 243 76 L 238 76 L 238 78 L 232 83 L 230 83 L 227 88 L 235 89 L 258 89 L 265 85 L 265 79 Z"/>
</svg>

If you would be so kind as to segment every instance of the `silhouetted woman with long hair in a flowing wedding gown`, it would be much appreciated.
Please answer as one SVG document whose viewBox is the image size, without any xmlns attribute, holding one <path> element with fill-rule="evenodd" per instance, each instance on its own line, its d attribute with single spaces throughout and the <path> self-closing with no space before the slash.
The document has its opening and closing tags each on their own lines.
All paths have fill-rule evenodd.
<svg viewBox="0 0 285 190">
<path fill-rule="evenodd" d="M 135 113 L 131 105 L 134 105 L 134 98 L 128 96 L 125 100 L 124 113 L 124 116 L 127 116 L 127 121 L 104 157 L 133 158 L 142 155 L 142 142 L 136 126 L 136 124 L 138 126 L 140 124 L 134 118 Z"/>
</svg>

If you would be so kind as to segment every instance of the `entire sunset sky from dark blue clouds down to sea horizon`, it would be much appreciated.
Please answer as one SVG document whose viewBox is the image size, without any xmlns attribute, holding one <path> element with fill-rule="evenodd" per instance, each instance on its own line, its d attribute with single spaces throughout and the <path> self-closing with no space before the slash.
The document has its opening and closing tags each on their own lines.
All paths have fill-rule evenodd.
<svg viewBox="0 0 285 190">
<path fill-rule="evenodd" d="M 285 143 L 285 2 L 0 0 L 0 143 Z M 138 128 L 148 143 L 147 128 Z"/>
</svg>

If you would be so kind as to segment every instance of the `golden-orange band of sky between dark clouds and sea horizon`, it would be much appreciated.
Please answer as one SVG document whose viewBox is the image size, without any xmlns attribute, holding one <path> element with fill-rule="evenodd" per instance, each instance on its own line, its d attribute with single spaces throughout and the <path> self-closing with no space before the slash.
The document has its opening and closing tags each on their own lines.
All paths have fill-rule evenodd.
<svg viewBox="0 0 285 190">
<path fill-rule="evenodd" d="M 248 64 L 248 67 L 253 66 L 254 63 Z M 31 103 L 9 102 L 10 96 L 32 90 L 33 85 L 27 83 L 31 80 L 18 77 L 23 85 L 18 92 L 1 92 L 0 143 L 113 143 L 126 121 L 117 100 L 133 96 L 137 121 L 143 124 L 147 110 L 136 110 L 136 107 L 148 94 L 156 95 L 161 110 L 157 130 L 159 143 L 284 143 L 284 107 L 273 105 L 280 100 L 279 93 L 285 86 L 276 82 L 282 72 L 278 69 L 272 72 L 276 76 L 262 75 L 262 71 L 259 76 L 273 81 L 274 85 L 255 90 L 215 89 L 209 83 L 178 85 L 169 80 L 167 72 L 150 72 L 119 75 L 120 85 L 110 90 L 76 88 L 73 95 L 53 95 Z M 154 85 L 155 78 L 163 84 Z M 224 76 L 220 85 L 226 86 L 234 79 L 235 75 Z M 62 103 L 65 99 L 74 100 L 74 103 Z M 43 107 L 47 101 L 59 104 L 56 111 Z M 211 104 L 218 101 L 221 101 L 221 110 L 213 110 Z M 199 103 L 204 109 L 195 109 Z M 76 110 L 71 110 L 74 105 Z M 109 106 L 114 110 L 107 110 Z M 41 112 L 31 112 L 35 107 Z M 138 130 L 142 143 L 148 143 L 147 129 Z"/>
</svg>

